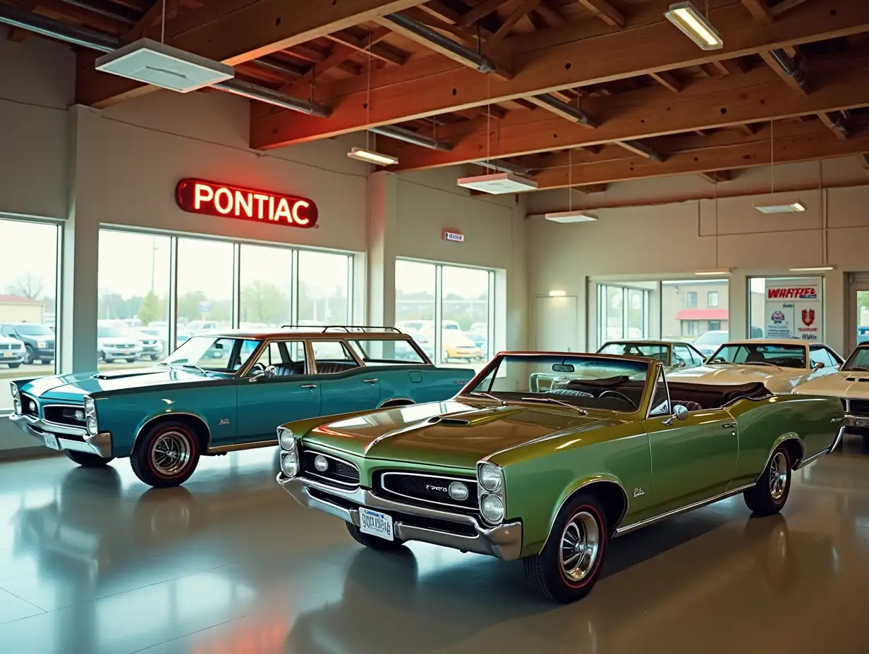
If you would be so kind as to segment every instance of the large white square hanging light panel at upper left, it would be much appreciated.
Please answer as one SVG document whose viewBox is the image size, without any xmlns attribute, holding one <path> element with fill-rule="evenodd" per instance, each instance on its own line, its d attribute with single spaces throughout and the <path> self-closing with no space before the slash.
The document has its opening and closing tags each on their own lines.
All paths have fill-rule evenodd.
<svg viewBox="0 0 869 654">
<path fill-rule="evenodd" d="M 99 57 L 96 69 L 178 93 L 189 93 L 235 77 L 232 66 L 149 38 L 140 38 Z"/>
</svg>

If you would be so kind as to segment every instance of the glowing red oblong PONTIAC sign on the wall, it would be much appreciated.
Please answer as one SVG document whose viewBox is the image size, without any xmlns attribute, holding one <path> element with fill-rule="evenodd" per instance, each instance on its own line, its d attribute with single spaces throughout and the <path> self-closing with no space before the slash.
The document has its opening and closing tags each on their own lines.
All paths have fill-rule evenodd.
<svg viewBox="0 0 869 654">
<path fill-rule="evenodd" d="M 311 200 L 253 188 L 186 179 L 175 190 L 178 206 L 191 214 L 269 221 L 284 227 L 312 228 L 317 206 Z"/>
</svg>

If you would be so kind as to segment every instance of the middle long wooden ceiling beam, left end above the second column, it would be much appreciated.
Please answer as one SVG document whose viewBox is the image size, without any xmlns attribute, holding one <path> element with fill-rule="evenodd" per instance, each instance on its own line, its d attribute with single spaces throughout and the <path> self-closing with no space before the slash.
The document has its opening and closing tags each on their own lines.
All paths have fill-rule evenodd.
<svg viewBox="0 0 869 654">
<path fill-rule="evenodd" d="M 487 135 L 486 125 L 478 122 L 445 128 L 438 136 L 454 144 L 448 152 L 395 144 L 388 154 L 401 160 L 396 169 L 437 168 L 479 159 L 487 142 L 493 156 L 530 155 L 697 129 L 743 129 L 744 123 L 869 106 L 869 55 L 819 56 L 813 68 L 819 72 L 819 85 L 810 96 L 783 93 L 778 76 L 759 67 L 745 75 L 698 80 L 676 95 L 649 87 L 586 100 L 582 109 L 600 120 L 596 129 L 544 112 L 513 112 L 500 123 L 497 134 Z"/>
</svg>

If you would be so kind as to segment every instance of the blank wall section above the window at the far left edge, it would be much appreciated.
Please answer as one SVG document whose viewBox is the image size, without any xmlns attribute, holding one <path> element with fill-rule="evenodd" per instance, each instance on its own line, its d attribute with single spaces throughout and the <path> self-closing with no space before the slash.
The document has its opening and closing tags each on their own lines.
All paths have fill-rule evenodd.
<svg viewBox="0 0 869 654">
<path fill-rule="evenodd" d="M 6 32 L 0 27 L 0 214 L 62 218 L 76 59 L 59 43 L 13 43 Z"/>
</svg>

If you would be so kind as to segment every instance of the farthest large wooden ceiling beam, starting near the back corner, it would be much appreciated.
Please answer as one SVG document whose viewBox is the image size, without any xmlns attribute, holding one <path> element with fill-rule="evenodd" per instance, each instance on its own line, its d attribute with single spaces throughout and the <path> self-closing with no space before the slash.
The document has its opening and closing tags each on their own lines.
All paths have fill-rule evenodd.
<svg viewBox="0 0 869 654">
<path fill-rule="evenodd" d="M 775 162 L 795 163 L 828 159 L 838 156 L 858 155 L 869 151 L 869 129 L 847 141 L 839 141 L 830 135 L 819 122 L 813 123 L 815 129 L 806 133 L 797 130 L 799 135 L 776 135 L 774 142 Z M 804 127 L 793 123 L 794 127 Z M 780 131 L 780 130 L 779 130 Z M 766 138 L 756 138 L 754 142 L 738 148 L 709 148 L 669 155 L 666 162 L 652 162 L 636 157 L 614 159 L 607 162 L 574 165 L 568 175 L 567 167 L 541 170 L 535 176 L 538 190 L 567 188 L 576 184 L 604 184 L 626 180 L 687 175 L 707 170 L 755 168 L 770 164 L 770 143 Z"/>
</svg>

